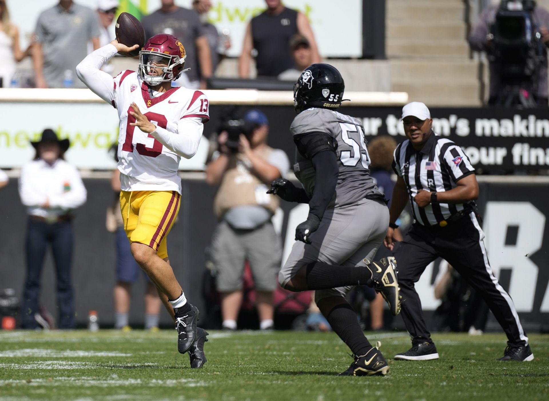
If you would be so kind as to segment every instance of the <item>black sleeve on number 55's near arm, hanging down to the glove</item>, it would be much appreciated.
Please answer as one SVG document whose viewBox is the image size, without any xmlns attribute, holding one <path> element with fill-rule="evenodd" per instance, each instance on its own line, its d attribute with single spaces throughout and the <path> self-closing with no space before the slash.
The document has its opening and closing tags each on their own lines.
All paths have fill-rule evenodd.
<svg viewBox="0 0 549 401">
<path fill-rule="evenodd" d="M 321 151 L 312 158 L 315 167 L 315 189 L 309 201 L 309 214 L 322 220 L 322 216 L 335 192 L 338 183 L 339 167 L 335 152 Z"/>
</svg>

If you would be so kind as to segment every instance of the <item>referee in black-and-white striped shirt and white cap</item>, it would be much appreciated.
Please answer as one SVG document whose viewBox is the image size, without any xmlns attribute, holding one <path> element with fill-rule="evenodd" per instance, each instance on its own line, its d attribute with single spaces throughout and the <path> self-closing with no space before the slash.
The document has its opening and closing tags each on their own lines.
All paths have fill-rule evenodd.
<svg viewBox="0 0 549 401">
<path fill-rule="evenodd" d="M 484 247 L 484 233 L 474 200 L 479 195 L 474 168 L 460 146 L 433 132 L 433 120 L 423 103 L 402 108 L 408 138 L 394 153 L 398 176 L 391 199 L 385 246 L 393 250 L 399 266 L 402 318 L 412 337 L 412 348 L 395 359 L 438 359 L 414 283 L 437 257 L 446 259 L 481 293 L 507 335 L 507 348 L 499 360 L 534 359 L 528 337 L 509 294 L 492 274 Z M 414 224 L 406 238 L 393 241 L 397 217 L 408 200 Z"/>
</svg>

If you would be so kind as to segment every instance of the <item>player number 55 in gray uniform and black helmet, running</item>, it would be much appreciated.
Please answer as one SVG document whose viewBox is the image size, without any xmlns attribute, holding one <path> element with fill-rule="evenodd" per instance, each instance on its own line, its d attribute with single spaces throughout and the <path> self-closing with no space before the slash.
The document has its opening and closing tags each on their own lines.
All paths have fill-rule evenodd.
<svg viewBox="0 0 549 401">
<path fill-rule="evenodd" d="M 304 188 L 288 180 L 271 183 L 269 193 L 309 204 L 298 225 L 288 261 L 278 274 L 291 291 L 316 290 L 324 317 L 354 354 L 341 375 L 385 375 L 389 365 L 368 342 L 345 300 L 356 285 L 381 292 L 393 315 L 400 312 L 394 258 L 371 262 L 383 243 L 389 210 L 369 174 L 370 159 L 362 123 L 333 110 L 341 105 L 345 83 L 328 64 L 312 64 L 294 86 L 295 117 L 290 131 L 297 146 L 294 172 Z"/>
</svg>

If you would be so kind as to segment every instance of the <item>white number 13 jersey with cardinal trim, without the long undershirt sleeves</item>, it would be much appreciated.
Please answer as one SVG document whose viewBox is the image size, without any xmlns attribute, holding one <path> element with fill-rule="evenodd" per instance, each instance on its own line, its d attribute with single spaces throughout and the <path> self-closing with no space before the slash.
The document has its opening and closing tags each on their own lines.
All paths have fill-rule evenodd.
<svg viewBox="0 0 549 401">
<path fill-rule="evenodd" d="M 171 191 L 181 193 L 181 179 L 177 170 L 181 156 L 164 146 L 153 134 L 130 125 L 136 118 L 130 114 L 136 103 L 142 114 L 157 131 L 189 137 L 201 136 L 204 123 L 209 120 L 206 95 L 194 89 L 172 88 L 167 92 L 153 92 L 139 80 L 135 71 L 122 71 L 114 79 L 113 105 L 120 117 L 118 137 L 118 169 L 124 191 Z"/>
</svg>

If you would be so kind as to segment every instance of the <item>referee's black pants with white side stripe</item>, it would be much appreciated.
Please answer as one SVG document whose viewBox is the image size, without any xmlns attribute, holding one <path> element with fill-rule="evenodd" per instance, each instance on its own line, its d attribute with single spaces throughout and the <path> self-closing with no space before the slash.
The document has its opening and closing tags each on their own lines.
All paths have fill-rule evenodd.
<svg viewBox="0 0 549 401">
<path fill-rule="evenodd" d="M 450 263 L 483 296 L 505 331 L 509 346 L 528 344 L 513 300 L 492 274 L 483 239 L 477 216 L 471 212 L 446 227 L 414 223 L 406 238 L 397 244 L 395 258 L 403 300 L 401 315 L 413 344 L 433 342 L 414 283 L 437 257 Z"/>
</svg>

